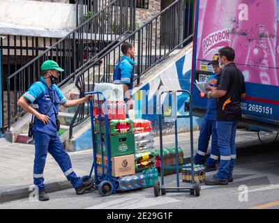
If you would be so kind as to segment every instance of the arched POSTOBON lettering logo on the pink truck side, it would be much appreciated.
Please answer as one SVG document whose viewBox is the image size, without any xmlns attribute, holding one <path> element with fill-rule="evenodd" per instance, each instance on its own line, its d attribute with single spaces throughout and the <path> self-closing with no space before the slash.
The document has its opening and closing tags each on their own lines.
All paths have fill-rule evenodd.
<svg viewBox="0 0 279 223">
<path fill-rule="evenodd" d="M 202 40 L 202 53 L 205 57 L 211 52 L 212 49 L 216 48 L 218 43 L 230 43 L 230 32 L 229 29 L 223 29 L 209 34 Z"/>
</svg>

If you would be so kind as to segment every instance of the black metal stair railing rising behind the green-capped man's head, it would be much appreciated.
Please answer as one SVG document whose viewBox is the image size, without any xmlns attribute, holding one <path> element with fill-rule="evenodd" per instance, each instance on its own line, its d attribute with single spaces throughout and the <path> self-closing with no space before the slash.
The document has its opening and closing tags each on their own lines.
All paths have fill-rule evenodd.
<svg viewBox="0 0 279 223">
<path fill-rule="evenodd" d="M 89 17 L 42 54 L 7 77 L 8 130 L 26 112 L 17 107 L 17 100 L 40 77 L 40 65 L 47 59 L 59 63 L 65 71 L 59 77 L 59 86 L 66 84 L 80 72 L 87 62 L 107 46 L 115 43 L 126 31 L 135 29 L 135 0 L 114 0 Z M 13 95 L 12 95 L 13 93 Z M 13 96 L 13 97 L 11 97 Z"/>
</svg>

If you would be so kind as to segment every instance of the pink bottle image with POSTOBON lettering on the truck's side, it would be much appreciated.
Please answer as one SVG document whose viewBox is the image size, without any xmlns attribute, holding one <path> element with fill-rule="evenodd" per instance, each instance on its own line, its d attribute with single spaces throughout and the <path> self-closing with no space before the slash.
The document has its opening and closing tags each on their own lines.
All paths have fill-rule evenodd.
<svg viewBox="0 0 279 223">
<path fill-rule="evenodd" d="M 197 51 L 197 69 L 201 65 L 199 60 L 211 61 L 218 48 L 232 45 L 234 35 L 231 33 L 237 26 L 234 21 L 238 3 L 239 1 L 211 0 L 202 6 L 204 13 L 199 15 L 197 35 L 200 45 Z"/>
</svg>

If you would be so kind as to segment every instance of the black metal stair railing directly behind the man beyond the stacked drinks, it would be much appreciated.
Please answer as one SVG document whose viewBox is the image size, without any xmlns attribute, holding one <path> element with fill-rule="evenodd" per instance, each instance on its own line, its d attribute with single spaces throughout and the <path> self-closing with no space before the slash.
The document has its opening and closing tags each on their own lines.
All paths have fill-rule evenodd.
<svg viewBox="0 0 279 223">
<path fill-rule="evenodd" d="M 189 7 L 188 1 L 176 0 L 170 6 L 161 11 L 156 17 L 130 33 L 126 38 L 116 43 L 105 54 L 96 54 L 89 61 L 88 66 L 77 73 L 75 86 L 80 91 L 80 97 L 87 91 L 93 91 L 94 83 L 112 82 L 114 66 L 121 57 L 121 45 L 125 41 L 133 43 L 135 47 L 135 83 L 140 84 L 140 78 L 148 70 L 156 66 L 175 49 L 183 47 L 185 43 L 193 40 L 193 23 L 186 20 L 188 13 L 193 13 L 193 7 Z M 186 30 L 189 30 L 187 33 Z M 99 61 L 103 61 L 102 64 Z M 97 66 L 96 66 L 97 65 Z M 72 122 L 70 123 L 69 138 L 73 137 L 73 128 L 89 118 L 87 104 L 79 105 Z"/>
</svg>

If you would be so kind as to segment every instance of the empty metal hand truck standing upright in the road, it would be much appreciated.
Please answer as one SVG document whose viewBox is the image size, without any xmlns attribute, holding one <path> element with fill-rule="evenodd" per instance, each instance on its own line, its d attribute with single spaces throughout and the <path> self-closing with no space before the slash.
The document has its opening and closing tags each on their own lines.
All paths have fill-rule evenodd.
<svg viewBox="0 0 279 223">
<path fill-rule="evenodd" d="M 170 118 L 174 118 L 174 129 L 175 129 L 175 149 L 176 149 L 176 187 L 165 187 L 164 183 L 164 164 L 163 164 L 163 134 L 162 134 L 162 123 L 164 118 L 164 109 L 161 103 L 161 97 L 163 93 L 171 93 L 172 94 L 172 105 L 174 105 L 174 109 L 172 112 L 174 114 Z M 176 93 L 187 93 L 189 95 L 189 114 L 183 116 L 177 116 L 177 99 Z M 165 195 L 168 192 L 190 192 L 191 195 L 196 197 L 200 194 L 200 184 L 199 181 L 195 182 L 194 178 L 194 150 L 193 150 L 193 111 L 192 111 L 192 96 L 189 91 L 186 90 L 179 90 L 179 91 L 163 91 L 159 95 L 158 100 L 158 111 L 159 111 L 159 128 L 160 128 L 160 174 L 161 174 L 161 185 L 160 182 L 157 180 L 154 183 L 154 194 L 155 197 L 160 196 L 160 192 L 162 195 Z M 161 110 L 160 110 L 161 109 Z M 166 117 L 166 116 L 165 116 Z M 179 186 L 179 151 L 178 151 L 178 137 L 177 137 L 177 118 L 190 118 L 190 159 L 191 159 L 191 171 L 192 171 L 192 186 L 191 187 L 180 187 Z"/>
</svg>

